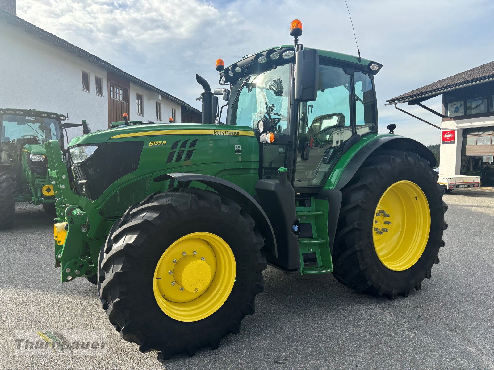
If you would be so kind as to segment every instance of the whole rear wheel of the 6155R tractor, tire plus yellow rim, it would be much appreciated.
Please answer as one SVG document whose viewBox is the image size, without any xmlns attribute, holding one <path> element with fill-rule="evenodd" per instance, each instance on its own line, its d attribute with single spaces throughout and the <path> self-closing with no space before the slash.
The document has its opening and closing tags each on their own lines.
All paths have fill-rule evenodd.
<svg viewBox="0 0 494 370">
<path fill-rule="evenodd" d="M 437 177 L 414 153 L 375 152 L 364 162 L 342 189 L 332 253 L 338 281 L 390 298 L 420 290 L 448 226 Z"/>
</svg>

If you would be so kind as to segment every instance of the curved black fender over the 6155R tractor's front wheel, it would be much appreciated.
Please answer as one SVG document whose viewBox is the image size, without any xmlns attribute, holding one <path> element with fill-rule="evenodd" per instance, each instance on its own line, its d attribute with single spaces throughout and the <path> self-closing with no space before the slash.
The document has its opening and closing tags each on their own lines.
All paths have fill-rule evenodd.
<svg viewBox="0 0 494 370">
<path fill-rule="evenodd" d="M 271 225 L 271 222 L 269 222 L 268 216 L 263 211 L 259 203 L 257 203 L 255 199 L 252 198 L 243 188 L 219 177 L 185 172 L 163 174 L 153 179 L 153 181 L 157 183 L 166 180 L 176 180 L 179 183 L 183 183 L 185 187 L 188 187 L 191 181 L 197 181 L 209 186 L 219 194 L 230 198 L 242 209 L 244 209 L 250 217 L 252 217 L 252 219 L 254 219 L 255 224 L 259 228 L 259 232 L 264 238 L 263 250 L 274 254 L 278 258 L 278 247 L 276 245 L 273 226 Z"/>
</svg>

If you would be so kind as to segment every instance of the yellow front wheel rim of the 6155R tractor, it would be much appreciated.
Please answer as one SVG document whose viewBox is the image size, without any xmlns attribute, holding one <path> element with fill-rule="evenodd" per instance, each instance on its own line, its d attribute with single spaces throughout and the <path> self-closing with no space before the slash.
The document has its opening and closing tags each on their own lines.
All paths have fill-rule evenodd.
<svg viewBox="0 0 494 370">
<path fill-rule="evenodd" d="M 156 265 L 156 302 L 175 320 L 202 320 L 230 296 L 236 270 L 230 246 L 218 235 L 185 235 L 166 249 Z"/>
</svg>

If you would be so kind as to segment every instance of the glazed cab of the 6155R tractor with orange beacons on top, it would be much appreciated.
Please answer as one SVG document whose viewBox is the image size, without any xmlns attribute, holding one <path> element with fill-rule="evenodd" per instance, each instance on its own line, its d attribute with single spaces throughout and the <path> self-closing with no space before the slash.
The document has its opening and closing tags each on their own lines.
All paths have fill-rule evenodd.
<svg viewBox="0 0 494 370">
<path fill-rule="evenodd" d="M 373 77 L 381 65 L 304 49 L 299 27 L 290 31 L 295 46 L 273 47 L 225 69 L 219 60 L 216 69 L 220 83 L 231 85 L 226 124 L 250 126 L 263 144 L 260 178 L 276 178 L 285 167 L 297 193 L 315 193 L 346 150 L 377 132 Z"/>
</svg>

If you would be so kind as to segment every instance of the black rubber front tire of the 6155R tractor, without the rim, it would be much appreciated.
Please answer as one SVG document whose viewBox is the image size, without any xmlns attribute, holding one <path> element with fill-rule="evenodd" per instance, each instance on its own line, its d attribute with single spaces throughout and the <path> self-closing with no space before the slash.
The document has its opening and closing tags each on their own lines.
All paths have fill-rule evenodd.
<svg viewBox="0 0 494 370">
<path fill-rule="evenodd" d="M 267 263 L 254 221 L 236 203 L 199 189 L 152 194 L 115 225 L 101 251 L 98 284 L 107 316 L 125 340 L 143 353 L 162 351 L 168 359 L 180 352 L 194 356 L 206 345 L 216 349 L 221 338 L 240 332 L 245 315 L 255 311 L 256 294 L 264 290 L 261 271 Z M 228 243 L 235 256 L 235 282 L 215 312 L 198 321 L 180 321 L 157 303 L 154 273 L 169 246 L 195 232 Z"/>
</svg>

